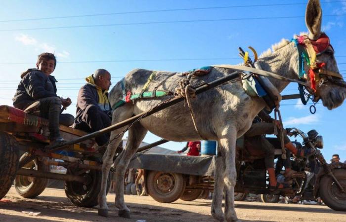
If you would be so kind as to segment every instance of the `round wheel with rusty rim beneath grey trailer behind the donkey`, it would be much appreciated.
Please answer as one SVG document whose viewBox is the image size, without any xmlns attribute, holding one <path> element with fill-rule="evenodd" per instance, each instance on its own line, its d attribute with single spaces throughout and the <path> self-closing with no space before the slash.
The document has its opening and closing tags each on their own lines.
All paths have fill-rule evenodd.
<svg viewBox="0 0 346 222">
<path fill-rule="evenodd" d="M 149 195 L 161 203 L 172 203 L 185 191 L 186 181 L 181 174 L 150 171 L 146 180 Z"/>
</svg>

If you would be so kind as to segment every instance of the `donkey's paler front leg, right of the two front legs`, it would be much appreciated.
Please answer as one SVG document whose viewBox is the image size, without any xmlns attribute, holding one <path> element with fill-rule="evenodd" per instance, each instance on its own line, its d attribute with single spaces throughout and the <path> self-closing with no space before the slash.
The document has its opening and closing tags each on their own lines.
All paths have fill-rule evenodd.
<svg viewBox="0 0 346 222">
<path fill-rule="evenodd" d="M 225 159 L 225 219 L 227 222 L 238 221 L 237 215 L 234 210 L 234 186 L 237 180 L 237 171 L 235 169 L 235 144 L 236 144 L 236 132 L 228 131 L 227 136 L 219 140 L 220 146 L 224 150 Z"/>
</svg>

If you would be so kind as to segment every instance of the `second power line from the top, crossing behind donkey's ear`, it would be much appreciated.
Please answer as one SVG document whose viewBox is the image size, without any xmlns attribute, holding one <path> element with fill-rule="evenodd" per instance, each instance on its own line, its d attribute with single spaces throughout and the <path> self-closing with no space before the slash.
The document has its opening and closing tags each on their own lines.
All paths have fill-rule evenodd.
<svg viewBox="0 0 346 222">
<path fill-rule="evenodd" d="M 323 17 L 345 16 L 339 15 L 323 15 Z M 98 24 L 98 25 L 79 25 L 79 26 L 56 26 L 41 28 L 22 28 L 22 29 L 1 29 L 0 32 L 8 31 L 28 31 L 28 30 L 49 30 L 49 29 L 73 29 L 73 28 L 93 28 L 108 26 L 132 26 L 132 25 L 153 25 L 153 24 L 174 24 L 174 23 L 193 23 L 193 22 L 220 22 L 220 21 L 241 21 L 241 20 L 265 20 L 265 19 L 292 19 L 305 18 L 305 16 L 279 16 L 279 17 L 257 17 L 257 18 L 229 18 L 229 19 L 202 19 L 202 20 L 181 20 L 181 21 L 165 21 L 165 22 L 133 22 L 133 23 L 117 23 L 117 24 Z"/>
</svg>

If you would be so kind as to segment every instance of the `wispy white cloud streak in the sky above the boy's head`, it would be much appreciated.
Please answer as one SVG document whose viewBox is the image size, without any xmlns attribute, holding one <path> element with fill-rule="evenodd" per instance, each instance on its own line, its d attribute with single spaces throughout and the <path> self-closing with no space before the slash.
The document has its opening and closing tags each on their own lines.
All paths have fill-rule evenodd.
<svg viewBox="0 0 346 222">
<path fill-rule="evenodd" d="M 62 50 L 62 52 L 60 52 L 59 50 L 56 49 L 55 45 L 51 45 L 46 42 L 39 43 L 38 40 L 36 40 L 35 38 L 29 37 L 28 35 L 25 35 L 25 34 L 20 34 L 18 36 L 15 36 L 15 40 L 20 41 L 24 45 L 34 46 L 35 51 L 44 51 L 44 52 L 54 53 L 55 56 L 59 58 L 68 58 L 70 56 L 70 53 L 66 50 Z"/>
</svg>

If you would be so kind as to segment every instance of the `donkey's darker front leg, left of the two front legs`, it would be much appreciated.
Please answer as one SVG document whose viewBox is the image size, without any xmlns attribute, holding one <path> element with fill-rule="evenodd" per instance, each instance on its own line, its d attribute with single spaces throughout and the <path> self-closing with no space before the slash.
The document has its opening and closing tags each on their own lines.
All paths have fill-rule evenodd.
<svg viewBox="0 0 346 222">
<path fill-rule="evenodd" d="M 218 143 L 219 144 L 219 143 Z M 219 145 L 217 147 L 217 156 L 215 160 L 215 173 L 214 173 L 214 194 L 212 202 L 212 215 L 217 221 L 224 221 L 222 212 L 222 195 L 224 187 L 224 151 Z"/>
</svg>

